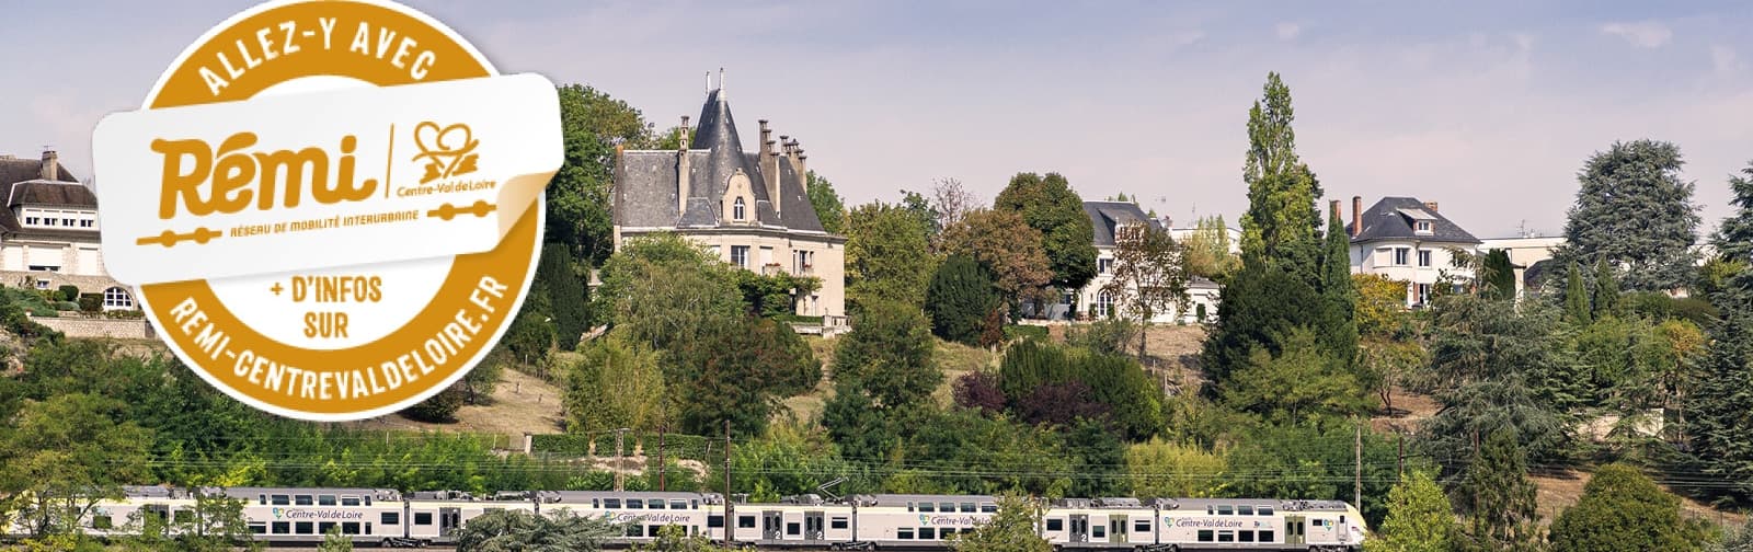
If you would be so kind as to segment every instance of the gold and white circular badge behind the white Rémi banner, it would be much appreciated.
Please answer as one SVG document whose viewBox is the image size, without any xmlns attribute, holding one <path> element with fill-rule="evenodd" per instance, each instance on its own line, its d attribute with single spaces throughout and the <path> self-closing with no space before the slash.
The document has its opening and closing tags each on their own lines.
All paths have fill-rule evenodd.
<svg viewBox="0 0 1753 552">
<path fill-rule="evenodd" d="M 494 75 L 466 40 L 408 7 L 379 0 L 273 2 L 233 16 L 189 46 L 142 109 Z M 324 114 L 298 116 L 316 121 Z M 452 131 L 429 124 L 407 140 L 422 142 L 424 156 L 433 156 L 429 144 L 456 147 L 470 140 L 466 126 Z M 342 142 L 344 151 L 351 145 Z M 456 172 L 458 161 L 472 163 L 442 161 L 445 175 Z M 542 247 L 542 195 L 529 202 L 500 205 L 501 212 L 533 216 L 510 223 L 491 251 L 144 284 L 140 303 L 184 363 L 256 408 L 310 421 L 396 412 L 459 380 L 510 326 Z M 445 221 L 456 216 L 449 205 L 445 210 Z"/>
</svg>

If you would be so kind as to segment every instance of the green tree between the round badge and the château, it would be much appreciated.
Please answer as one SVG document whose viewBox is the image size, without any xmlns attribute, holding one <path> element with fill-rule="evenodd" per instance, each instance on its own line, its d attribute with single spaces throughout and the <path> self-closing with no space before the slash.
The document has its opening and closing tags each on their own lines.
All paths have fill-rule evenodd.
<svg viewBox="0 0 1753 552">
<path fill-rule="evenodd" d="M 615 251 L 608 212 L 615 145 L 649 145 L 652 126 L 638 109 L 600 89 L 563 84 L 557 91 L 566 158 L 547 186 L 545 238 L 596 265 Z"/>
</svg>

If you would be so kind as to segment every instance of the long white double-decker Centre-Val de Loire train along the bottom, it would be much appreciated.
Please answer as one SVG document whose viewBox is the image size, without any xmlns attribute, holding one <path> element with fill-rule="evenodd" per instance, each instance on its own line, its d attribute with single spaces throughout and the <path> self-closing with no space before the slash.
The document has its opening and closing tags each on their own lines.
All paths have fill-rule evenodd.
<svg viewBox="0 0 1753 552">
<path fill-rule="evenodd" d="M 570 512 L 626 527 L 610 545 L 650 541 L 663 526 L 689 534 L 759 548 L 906 548 L 941 550 L 947 538 L 973 531 L 997 512 L 994 496 L 813 494 L 778 503 L 726 505 L 712 492 L 535 491 L 475 498 L 454 491 L 387 489 L 203 489 L 244 501 L 249 533 L 268 543 L 316 543 L 330 529 L 359 545 L 452 545 L 458 531 L 493 510 Z M 123 499 L 102 501 L 81 526 L 116 536 L 130 520 L 154 515 L 172 531 L 195 520 L 196 498 L 186 489 L 128 487 Z M 729 517 L 726 517 L 729 510 Z M 16 529 L 16 527 L 14 527 Z M 1369 531 L 1343 501 L 1220 498 L 1068 498 L 1047 505 L 1036 526 L 1057 550 L 1360 550 Z"/>
</svg>

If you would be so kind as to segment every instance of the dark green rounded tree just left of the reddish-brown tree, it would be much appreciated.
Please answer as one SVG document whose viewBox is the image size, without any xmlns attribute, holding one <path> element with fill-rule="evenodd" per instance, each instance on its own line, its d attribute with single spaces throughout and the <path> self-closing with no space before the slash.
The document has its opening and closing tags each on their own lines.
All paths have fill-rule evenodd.
<svg viewBox="0 0 1753 552">
<path fill-rule="evenodd" d="M 985 314 L 1001 303 L 990 273 L 966 254 L 952 254 L 938 265 L 926 287 L 926 312 L 931 333 L 947 342 L 975 345 L 985 326 Z"/>
</svg>

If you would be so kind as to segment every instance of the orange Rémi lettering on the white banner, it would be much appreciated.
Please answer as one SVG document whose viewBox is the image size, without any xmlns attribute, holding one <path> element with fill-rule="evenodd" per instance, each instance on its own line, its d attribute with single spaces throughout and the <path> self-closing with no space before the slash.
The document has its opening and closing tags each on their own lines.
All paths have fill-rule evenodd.
<svg viewBox="0 0 1753 552">
<path fill-rule="evenodd" d="M 370 198 L 377 189 L 377 179 L 365 179 L 358 186 L 352 180 L 352 151 L 358 142 L 352 135 L 340 138 L 340 158 L 333 163 L 335 179 L 330 180 L 328 151 L 321 147 L 242 151 L 256 145 L 252 131 L 224 138 L 217 151 L 200 138 L 153 140 L 153 151 L 165 156 L 158 217 L 174 219 L 179 205 L 196 217 L 216 212 L 235 214 L 249 209 L 251 202 L 256 203 L 258 210 L 270 210 L 275 207 L 277 195 L 284 195 L 280 205 L 298 207 L 307 172 L 310 173 L 310 198 L 317 203 Z"/>
</svg>

